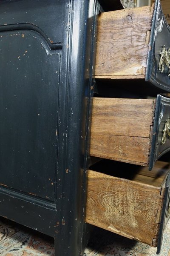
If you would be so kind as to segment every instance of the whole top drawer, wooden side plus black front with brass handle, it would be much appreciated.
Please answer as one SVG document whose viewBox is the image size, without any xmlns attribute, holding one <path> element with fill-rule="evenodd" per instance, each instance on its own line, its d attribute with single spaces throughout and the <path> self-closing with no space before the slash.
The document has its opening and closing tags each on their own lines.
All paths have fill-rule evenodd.
<svg viewBox="0 0 170 256">
<path fill-rule="evenodd" d="M 153 7 L 100 14 L 95 78 L 145 78 L 170 92 L 170 27 L 160 1 Z"/>
</svg>

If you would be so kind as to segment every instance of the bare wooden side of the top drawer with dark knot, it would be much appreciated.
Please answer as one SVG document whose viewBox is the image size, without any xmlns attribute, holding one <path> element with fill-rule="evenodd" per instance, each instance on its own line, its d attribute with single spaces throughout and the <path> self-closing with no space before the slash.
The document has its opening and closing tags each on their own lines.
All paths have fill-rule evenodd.
<svg viewBox="0 0 170 256">
<path fill-rule="evenodd" d="M 96 78 L 145 77 L 152 17 L 150 6 L 99 15 Z"/>
</svg>

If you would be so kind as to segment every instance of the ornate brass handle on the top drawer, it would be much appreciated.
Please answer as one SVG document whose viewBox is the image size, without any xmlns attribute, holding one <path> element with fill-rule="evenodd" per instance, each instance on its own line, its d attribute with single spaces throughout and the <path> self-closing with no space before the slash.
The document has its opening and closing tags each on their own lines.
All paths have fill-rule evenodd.
<svg viewBox="0 0 170 256">
<path fill-rule="evenodd" d="M 159 70 L 161 73 L 164 72 L 164 65 L 170 69 L 170 48 L 166 49 L 165 46 L 162 47 L 162 51 L 160 52 L 160 60 L 159 60 Z M 168 75 L 170 77 L 170 74 Z"/>
</svg>

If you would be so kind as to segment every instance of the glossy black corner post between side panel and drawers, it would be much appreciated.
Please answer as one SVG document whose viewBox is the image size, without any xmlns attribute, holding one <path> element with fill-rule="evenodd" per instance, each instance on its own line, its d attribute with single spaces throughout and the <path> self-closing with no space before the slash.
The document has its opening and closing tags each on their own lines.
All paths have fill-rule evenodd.
<svg viewBox="0 0 170 256">
<path fill-rule="evenodd" d="M 70 1 L 68 7 L 62 56 L 62 70 L 67 76 L 64 72 L 61 75 L 59 104 L 55 231 L 55 250 L 59 255 L 82 255 L 86 241 L 88 135 L 97 8 L 95 0 Z"/>
</svg>

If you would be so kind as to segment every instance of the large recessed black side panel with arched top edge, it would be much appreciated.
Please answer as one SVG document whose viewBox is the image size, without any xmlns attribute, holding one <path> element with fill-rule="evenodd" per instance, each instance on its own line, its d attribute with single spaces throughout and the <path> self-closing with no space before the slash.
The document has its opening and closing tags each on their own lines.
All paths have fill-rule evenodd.
<svg viewBox="0 0 170 256">
<path fill-rule="evenodd" d="M 59 65 L 59 51 L 39 33 L 0 33 L 0 184 L 51 201 Z"/>
</svg>

